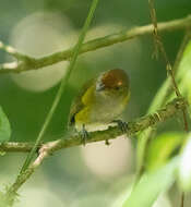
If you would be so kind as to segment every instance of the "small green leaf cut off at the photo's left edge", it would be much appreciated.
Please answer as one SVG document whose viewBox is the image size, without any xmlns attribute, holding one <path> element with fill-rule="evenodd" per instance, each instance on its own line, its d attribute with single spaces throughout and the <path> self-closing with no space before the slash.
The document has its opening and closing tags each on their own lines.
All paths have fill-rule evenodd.
<svg viewBox="0 0 191 207">
<path fill-rule="evenodd" d="M 0 143 L 8 142 L 11 136 L 10 122 L 0 107 Z"/>
</svg>

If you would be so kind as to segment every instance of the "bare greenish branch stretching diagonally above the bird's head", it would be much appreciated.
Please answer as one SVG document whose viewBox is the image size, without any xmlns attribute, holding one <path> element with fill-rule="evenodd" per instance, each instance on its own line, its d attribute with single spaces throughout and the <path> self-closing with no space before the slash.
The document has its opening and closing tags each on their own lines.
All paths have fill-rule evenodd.
<svg viewBox="0 0 191 207">
<path fill-rule="evenodd" d="M 164 32 L 164 31 L 170 32 L 170 31 L 187 28 L 190 25 L 191 25 L 191 15 L 183 19 L 179 19 L 179 20 L 158 23 L 157 29 L 159 32 Z M 80 53 L 94 51 L 99 48 L 108 47 L 114 44 L 122 42 L 122 41 L 132 39 L 134 37 L 148 35 L 152 33 L 153 33 L 153 25 L 150 24 L 145 26 L 139 26 L 131 29 L 122 31 L 116 34 L 107 35 L 107 36 L 96 38 L 83 44 L 80 50 Z M 68 50 L 55 52 L 52 54 L 38 58 L 38 59 L 32 58 L 25 54 L 21 54 L 19 52 L 14 52 L 13 54 L 14 56 L 16 54 L 15 57 L 20 60 L 22 59 L 22 61 L 19 64 L 16 64 L 16 62 L 5 63 L 8 65 L 15 64 L 14 66 L 5 66 L 2 64 L 0 66 L 0 73 L 10 73 L 10 72 L 20 73 L 23 71 L 37 70 L 44 66 L 48 66 L 48 65 L 58 63 L 60 61 L 69 60 L 72 56 L 72 51 L 73 51 L 73 48 L 69 48 Z"/>
</svg>

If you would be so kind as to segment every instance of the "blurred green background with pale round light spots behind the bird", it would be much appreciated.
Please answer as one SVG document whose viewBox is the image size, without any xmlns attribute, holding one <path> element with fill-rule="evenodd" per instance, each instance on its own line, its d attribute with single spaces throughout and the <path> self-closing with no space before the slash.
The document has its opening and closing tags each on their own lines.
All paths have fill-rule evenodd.
<svg viewBox="0 0 191 207">
<path fill-rule="evenodd" d="M 183 17 L 191 11 L 190 0 L 155 2 L 158 22 Z M 0 40 L 26 54 L 43 57 L 76 42 L 91 0 L 0 0 Z M 145 24 L 150 24 L 147 1 L 100 1 L 86 40 Z M 182 37 L 182 31 L 163 34 L 171 62 Z M 131 100 L 123 119 L 143 115 L 166 78 L 164 62 L 152 59 L 153 48 L 151 36 L 144 36 L 80 56 L 44 141 L 64 136 L 73 97 L 87 80 L 105 70 L 121 68 L 130 75 Z M 11 58 L 0 51 L 0 63 L 7 61 Z M 67 65 L 68 62 L 60 62 L 38 71 L 0 75 L 0 105 L 12 126 L 11 141 L 35 141 Z M 169 126 L 178 130 L 181 123 L 169 122 L 160 129 Z M 109 146 L 95 143 L 60 150 L 23 185 L 17 207 L 116 207 L 131 187 L 134 151 L 134 137 L 120 137 Z M 0 157 L 2 188 L 14 181 L 25 156 Z M 175 191 L 170 197 L 162 195 L 155 206 L 170 207 L 178 199 Z"/>
</svg>

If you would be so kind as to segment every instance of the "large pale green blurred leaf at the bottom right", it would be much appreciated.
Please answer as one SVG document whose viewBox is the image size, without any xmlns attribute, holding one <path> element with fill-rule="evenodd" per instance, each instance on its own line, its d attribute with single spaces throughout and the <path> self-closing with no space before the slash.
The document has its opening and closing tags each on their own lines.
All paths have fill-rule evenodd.
<svg viewBox="0 0 191 207">
<path fill-rule="evenodd" d="M 151 207 L 175 182 L 178 158 L 155 172 L 143 174 L 122 207 Z"/>
</svg>

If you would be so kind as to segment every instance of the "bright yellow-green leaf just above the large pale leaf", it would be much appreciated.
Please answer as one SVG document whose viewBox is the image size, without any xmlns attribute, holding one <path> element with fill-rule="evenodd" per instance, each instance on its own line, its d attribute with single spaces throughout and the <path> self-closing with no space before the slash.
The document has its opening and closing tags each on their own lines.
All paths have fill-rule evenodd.
<svg viewBox="0 0 191 207">
<path fill-rule="evenodd" d="M 146 170 L 156 170 L 165 165 L 180 149 L 186 135 L 168 132 L 153 138 L 146 149 Z"/>
</svg>

